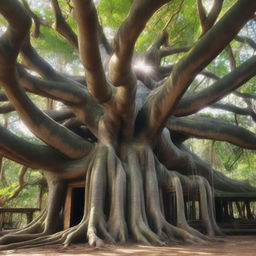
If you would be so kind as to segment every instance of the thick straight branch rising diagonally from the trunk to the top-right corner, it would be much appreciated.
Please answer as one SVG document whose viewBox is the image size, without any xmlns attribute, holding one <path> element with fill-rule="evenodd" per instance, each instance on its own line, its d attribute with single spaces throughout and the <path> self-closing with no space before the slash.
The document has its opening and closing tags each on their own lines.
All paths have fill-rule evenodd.
<svg viewBox="0 0 256 256">
<path fill-rule="evenodd" d="M 155 138 L 194 77 L 227 46 L 255 10 L 255 1 L 238 0 L 174 66 L 169 79 L 152 91 L 140 111 L 136 124 L 138 135 Z"/>
</svg>

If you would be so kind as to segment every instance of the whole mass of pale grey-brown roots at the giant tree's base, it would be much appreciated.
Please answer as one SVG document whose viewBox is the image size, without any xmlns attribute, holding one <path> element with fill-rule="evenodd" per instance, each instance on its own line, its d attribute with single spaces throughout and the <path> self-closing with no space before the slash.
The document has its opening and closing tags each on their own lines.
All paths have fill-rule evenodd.
<svg viewBox="0 0 256 256">
<path fill-rule="evenodd" d="M 220 232 L 213 215 L 211 187 L 205 179 L 168 171 L 152 150 L 143 145 L 128 146 L 125 155 L 121 162 L 110 146 L 95 147 L 85 177 L 83 218 L 78 225 L 57 233 L 56 219 L 63 208 L 65 183 L 48 175 L 47 212 L 26 229 L 2 237 L 0 249 L 57 243 L 69 246 L 85 241 L 101 247 L 104 242 L 127 242 L 128 239 L 154 245 L 177 241 L 205 243 L 208 236 L 190 227 L 185 218 L 183 187 L 199 191 L 207 234 Z M 160 188 L 176 193 L 177 226 L 165 218 L 167 206 L 161 201 Z"/>
</svg>

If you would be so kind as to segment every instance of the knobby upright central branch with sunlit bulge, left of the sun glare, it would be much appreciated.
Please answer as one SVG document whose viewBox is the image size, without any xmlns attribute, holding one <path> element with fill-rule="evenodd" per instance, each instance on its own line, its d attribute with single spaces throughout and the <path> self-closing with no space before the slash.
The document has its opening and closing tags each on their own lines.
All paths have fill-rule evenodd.
<svg viewBox="0 0 256 256">
<path fill-rule="evenodd" d="M 132 69 L 134 45 L 147 21 L 162 5 L 170 0 L 133 1 L 128 17 L 119 27 L 114 39 L 114 53 L 110 59 L 108 78 L 117 87 L 114 111 L 126 127 L 121 136 L 133 134 L 137 79 Z"/>
</svg>

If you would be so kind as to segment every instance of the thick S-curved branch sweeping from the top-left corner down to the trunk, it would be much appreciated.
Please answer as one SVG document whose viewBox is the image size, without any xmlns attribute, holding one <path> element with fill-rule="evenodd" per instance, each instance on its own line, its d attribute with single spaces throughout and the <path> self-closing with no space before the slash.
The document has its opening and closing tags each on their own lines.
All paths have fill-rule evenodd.
<svg viewBox="0 0 256 256">
<path fill-rule="evenodd" d="M 39 138 L 70 158 L 80 158 L 91 150 L 90 143 L 43 114 L 25 94 L 16 78 L 16 58 L 26 38 L 31 21 L 25 9 L 15 0 L 0 2 L 0 11 L 9 23 L 0 38 L 0 78 L 10 102 L 22 120 Z M 65 139 L 65 142 L 63 141 Z"/>
</svg>

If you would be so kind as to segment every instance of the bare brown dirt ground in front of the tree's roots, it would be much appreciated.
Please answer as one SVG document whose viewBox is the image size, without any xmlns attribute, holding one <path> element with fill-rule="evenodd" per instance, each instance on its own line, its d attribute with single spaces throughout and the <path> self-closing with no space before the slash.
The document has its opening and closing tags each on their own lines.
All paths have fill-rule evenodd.
<svg viewBox="0 0 256 256">
<path fill-rule="evenodd" d="M 103 248 L 91 248 L 84 244 L 72 245 L 67 249 L 62 246 L 47 246 L 33 249 L 9 250 L 0 252 L 1 255 L 61 255 L 61 256 L 256 256 L 256 235 L 228 236 L 222 242 L 210 242 L 204 245 L 175 244 L 163 247 L 145 245 L 111 245 Z"/>
</svg>

